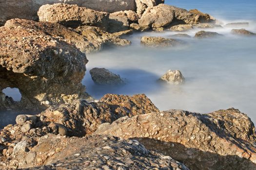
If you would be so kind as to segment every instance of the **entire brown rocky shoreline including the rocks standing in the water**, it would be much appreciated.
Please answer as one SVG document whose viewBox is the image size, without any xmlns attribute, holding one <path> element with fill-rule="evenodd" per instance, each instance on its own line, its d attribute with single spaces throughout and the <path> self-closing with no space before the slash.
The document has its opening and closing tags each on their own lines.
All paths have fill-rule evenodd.
<svg viewBox="0 0 256 170">
<path fill-rule="evenodd" d="M 19 115 L 0 130 L 0 169 L 256 169 L 255 126 L 237 109 L 159 111 L 144 94 L 106 94 L 96 101 L 81 83 L 86 53 L 128 46 L 125 38 L 134 32 L 229 27 L 236 36 L 254 36 L 244 29 L 249 23 L 224 25 L 164 0 L 96 1 L 0 1 L 0 111 L 39 113 Z M 186 44 L 179 36 L 189 35 L 142 36 L 141 45 Z M 221 36 L 199 31 L 195 40 Z M 98 85 L 127 83 L 105 68 L 90 74 Z M 182 85 L 185 78 L 168 70 L 156 81 Z M 6 87 L 18 88 L 21 100 L 6 96 Z"/>
</svg>

